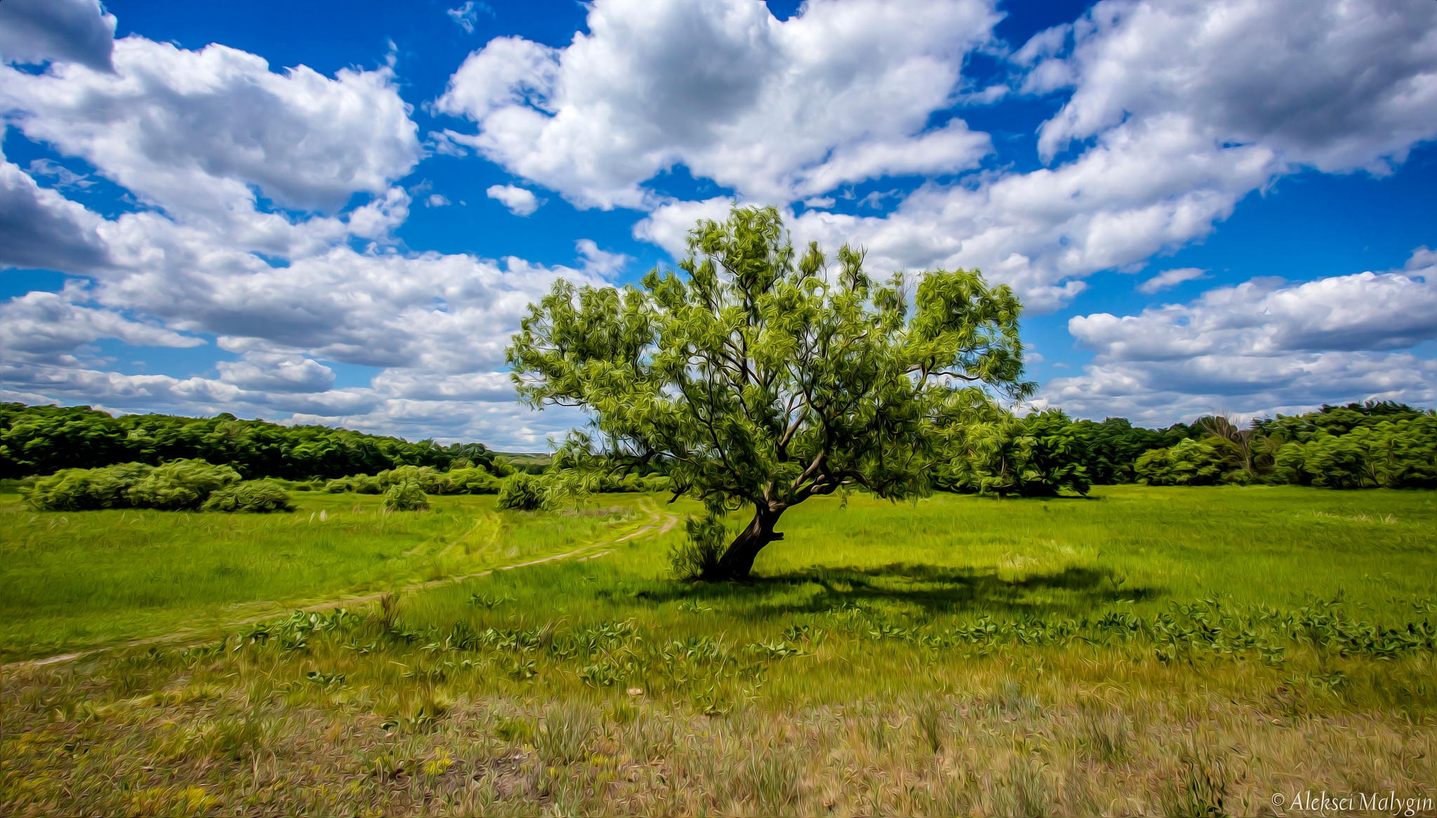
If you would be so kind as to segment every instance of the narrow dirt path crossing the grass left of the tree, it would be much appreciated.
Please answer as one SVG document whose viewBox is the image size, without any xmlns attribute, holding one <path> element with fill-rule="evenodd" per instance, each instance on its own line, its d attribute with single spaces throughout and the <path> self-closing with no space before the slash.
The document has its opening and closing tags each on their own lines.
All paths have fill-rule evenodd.
<svg viewBox="0 0 1437 818">
<path fill-rule="evenodd" d="M 299 607 L 296 607 L 293 610 L 296 610 L 296 611 L 306 611 L 306 612 L 308 611 L 329 611 L 329 610 L 342 608 L 342 607 L 346 607 L 346 605 L 364 605 L 364 604 L 368 604 L 368 602 L 375 602 L 381 597 L 384 597 L 385 594 L 408 594 L 408 592 L 412 592 L 412 591 L 427 591 L 430 588 L 440 588 L 443 585 L 453 585 L 454 582 L 464 582 L 466 579 L 477 579 L 480 576 L 489 576 L 490 574 L 494 574 L 496 571 L 513 571 L 514 568 L 529 568 L 530 565 L 543 565 L 545 562 L 559 562 L 559 561 L 563 561 L 563 559 L 575 559 L 575 561 L 595 559 L 598 556 L 604 556 L 606 553 L 612 553 L 614 552 L 614 546 L 618 545 L 618 543 L 621 543 L 621 542 L 628 542 L 628 541 L 631 541 L 631 539 L 634 539 L 637 536 L 644 536 L 644 535 L 650 535 L 650 533 L 652 533 L 655 536 L 664 535 L 664 533 L 667 533 L 670 530 L 674 530 L 674 526 L 678 525 L 678 518 L 675 515 L 661 513 L 661 512 L 657 512 L 657 510 L 651 510 L 650 515 L 651 515 L 650 522 L 647 525 L 638 528 L 637 530 L 632 530 L 632 532 L 629 532 L 629 533 L 627 533 L 624 536 L 615 538 L 615 539 L 609 539 L 609 541 L 604 541 L 604 542 L 591 542 L 589 545 L 585 545 L 582 548 L 576 548 L 573 551 L 566 551 L 563 553 L 553 553 L 550 556 L 540 556 L 539 559 L 529 559 L 526 562 L 514 562 L 513 565 L 497 565 L 494 568 L 486 568 L 484 571 L 476 571 L 473 574 L 461 574 L 461 575 L 456 575 L 456 576 L 444 576 L 443 579 L 430 579 L 427 582 L 414 582 L 414 584 L 410 584 L 410 585 L 404 585 L 401 588 L 394 588 L 391 591 L 378 591 L 378 592 L 374 592 L 374 594 L 356 594 L 356 595 L 348 595 L 348 597 L 335 597 L 332 599 L 323 599 L 323 601 L 312 602 L 312 604 L 308 604 L 308 605 L 299 605 Z M 29 660 L 24 660 L 24 661 L 16 661 L 16 663 L 10 663 L 10 664 L 3 664 L 3 666 L 0 666 L 0 671 L 10 673 L 10 671 L 14 671 L 14 670 L 23 670 L 23 668 L 30 668 L 30 667 L 45 667 L 47 664 L 62 664 L 62 663 L 66 663 L 66 661 L 75 661 L 76 658 L 85 658 L 88 656 L 98 656 L 98 654 L 102 654 L 102 653 L 112 653 L 112 651 L 116 651 L 116 650 L 125 650 L 125 648 L 132 648 L 132 647 L 160 645 L 160 644 L 175 645 L 175 644 L 185 644 L 187 640 L 203 641 L 203 640 L 213 638 L 213 634 L 217 630 L 231 631 L 231 630 L 236 630 L 236 628 L 243 628 L 244 625 L 253 625 L 256 622 L 263 622 L 266 620 L 273 620 L 273 618 L 277 618 L 280 615 L 283 615 L 283 614 L 272 612 L 272 614 L 264 614 L 264 615 L 259 615 L 259 617 L 246 617 L 243 620 L 231 620 L 231 621 L 227 621 L 227 622 L 217 622 L 217 624 L 208 625 L 208 627 L 205 627 L 203 630 L 201 628 L 185 628 L 182 631 L 174 631 L 174 633 L 160 634 L 160 635 L 154 635 L 154 637 L 144 637 L 144 638 L 138 638 L 138 640 L 128 640 L 128 641 L 122 641 L 122 643 L 115 643 L 115 644 L 93 647 L 93 648 L 73 651 L 73 653 L 62 653 L 62 654 L 56 654 L 56 656 L 47 656 L 45 658 L 29 658 Z"/>
</svg>

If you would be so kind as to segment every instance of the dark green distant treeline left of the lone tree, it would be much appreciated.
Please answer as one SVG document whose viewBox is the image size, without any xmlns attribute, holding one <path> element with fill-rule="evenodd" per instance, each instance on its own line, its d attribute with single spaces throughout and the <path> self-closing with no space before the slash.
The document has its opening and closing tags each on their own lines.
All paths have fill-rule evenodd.
<svg viewBox="0 0 1437 818">
<path fill-rule="evenodd" d="M 494 453 L 479 443 L 410 443 L 328 426 L 239 420 L 228 413 L 210 418 L 111 417 L 89 407 L 0 403 L 0 479 L 188 459 L 227 464 L 246 480 L 315 480 L 376 474 L 399 466 L 490 469 Z"/>
</svg>

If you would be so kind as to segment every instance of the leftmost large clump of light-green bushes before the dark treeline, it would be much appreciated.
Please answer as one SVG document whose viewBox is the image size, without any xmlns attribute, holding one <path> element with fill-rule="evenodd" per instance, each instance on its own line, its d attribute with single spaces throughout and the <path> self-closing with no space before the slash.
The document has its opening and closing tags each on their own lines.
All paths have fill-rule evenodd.
<svg viewBox="0 0 1437 818">
<path fill-rule="evenodd" d="M 91 509 L 194 510 L 240 474 L 204 460 L 174 460 L 161 466 L 118 463 L 103 469 L 63 469 L 37 479 L 24 502 L 37 510 Z"/>
</svg>

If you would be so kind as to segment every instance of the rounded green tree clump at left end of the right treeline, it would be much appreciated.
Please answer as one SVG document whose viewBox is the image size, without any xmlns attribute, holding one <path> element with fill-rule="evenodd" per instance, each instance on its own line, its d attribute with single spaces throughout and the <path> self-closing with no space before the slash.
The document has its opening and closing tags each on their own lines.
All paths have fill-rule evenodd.
<svg viewBox="0 0 1437 818">
<path fill-rule="evenodd" d="M 953 490 L 1000 497 L 1056 497 L 1063 489 L 1086 495 L 1086 460 L 1083 440 L 1063 413 L 1004 414 L 973 426 L 946 482 Z"/>
</svg>

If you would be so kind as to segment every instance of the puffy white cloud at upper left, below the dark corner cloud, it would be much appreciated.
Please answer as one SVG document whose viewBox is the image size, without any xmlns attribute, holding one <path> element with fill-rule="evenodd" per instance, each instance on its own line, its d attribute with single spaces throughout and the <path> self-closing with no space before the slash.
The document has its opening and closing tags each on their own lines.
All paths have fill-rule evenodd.
<svg viewBox="0 0 1437 818">
<path fill-rule="evenodd" d="M 115 43 L 114 73 L 0 68 L 0 108 L 27 138 L 82 157 L 142 200 L 182 211 L 250 206 L 254 190 L 333 210 L 382 194 L 420 158 L 392 70 L 270 70 L 256 55 Z"/>
</svg>

